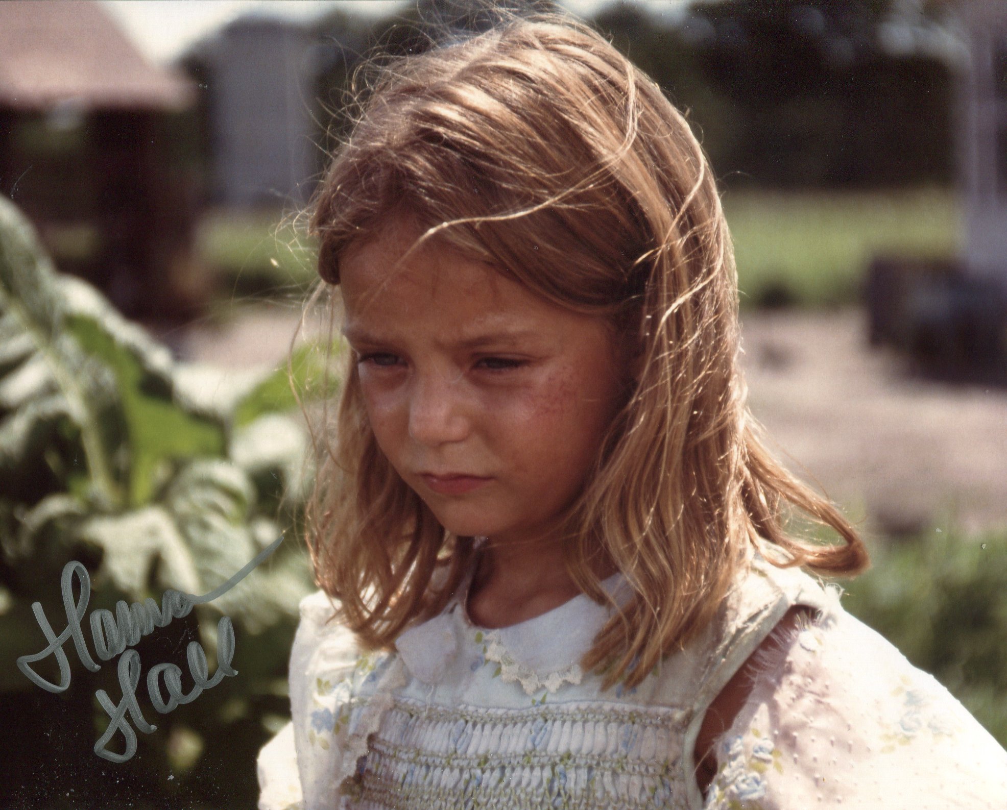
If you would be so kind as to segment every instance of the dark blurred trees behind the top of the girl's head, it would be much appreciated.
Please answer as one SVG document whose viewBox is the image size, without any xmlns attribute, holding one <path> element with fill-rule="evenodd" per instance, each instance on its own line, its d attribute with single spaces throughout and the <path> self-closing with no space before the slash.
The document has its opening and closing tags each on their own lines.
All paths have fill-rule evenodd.
<svg viewBox="0 0 1007 810">
<path fill-rule="evenodd" d="M 373 23 L 341 9 L 323 18 L 333 47 L 319 94 L 335 124 L 325 151 L 346 132 L 362 57 L 481 30 L 482 5 L 424 0 Z M 941 0 L 608 3 L 589 22 L 688 111 L 728 187 L 864 189 L 952 181 L 963 47 L 952 11 Z"/>
</svg>

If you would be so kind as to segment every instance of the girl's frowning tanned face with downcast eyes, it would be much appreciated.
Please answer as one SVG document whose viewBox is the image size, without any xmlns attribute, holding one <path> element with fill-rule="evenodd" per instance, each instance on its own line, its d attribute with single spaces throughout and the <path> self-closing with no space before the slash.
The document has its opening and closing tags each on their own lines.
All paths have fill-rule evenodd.
<svg viewBox="0 0 1007 810">
<path fill-rule="evenodd" d="M 346 335 L 382 452 L 441 524 L 495 543 L 549 538 L 622 403 L 604 322 L 393 222 L 339 257 Z M 387 286 L 385 286 L 387 283 Z M 424 474 L 478 476 L 441 491 Z"/>
</svg>

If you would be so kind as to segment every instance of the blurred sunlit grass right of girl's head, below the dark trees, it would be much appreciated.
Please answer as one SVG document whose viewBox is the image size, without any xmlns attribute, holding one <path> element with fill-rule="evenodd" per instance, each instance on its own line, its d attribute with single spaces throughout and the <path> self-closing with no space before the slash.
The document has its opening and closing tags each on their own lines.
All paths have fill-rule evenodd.
<svg viewBox="0 0 1007 810">
<path fill-rule="evenodd" d="M 954 257 L 961 212 L 951 191 L 727 192 L 741 306 L 823 307 L 859 300 L 878 255 Z"/>
</svg>

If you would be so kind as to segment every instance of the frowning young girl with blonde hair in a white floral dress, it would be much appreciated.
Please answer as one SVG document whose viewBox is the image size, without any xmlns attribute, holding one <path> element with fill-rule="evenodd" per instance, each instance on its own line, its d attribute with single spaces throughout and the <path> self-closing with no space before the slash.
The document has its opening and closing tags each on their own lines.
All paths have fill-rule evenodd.
<svg viewBox="0 0 1007 810">
<path fill-rule="evenodd" d="M 714 177 L 601 36 L 393 61 L 312 225 L 351 352 L 261 808 L 1007 807 L 804 573 L 866 553 L 759 442 Z"/>
</svg>

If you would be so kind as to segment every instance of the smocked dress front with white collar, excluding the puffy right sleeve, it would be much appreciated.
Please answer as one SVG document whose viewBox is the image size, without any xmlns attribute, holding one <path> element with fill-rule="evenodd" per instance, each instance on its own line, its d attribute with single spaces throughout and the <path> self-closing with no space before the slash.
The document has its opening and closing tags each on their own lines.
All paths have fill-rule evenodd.
<svg viewBox="0 0 1007 810">
<path fill-rule="evenodd" d="M 621 575 L 603 586 L 628 597 Z M 304 601 L 291 704 L 305 808 L 700 807 L 706 706 L 792 605 L 831 604 L 807 575 L 756 560 L 690 645 L 637 686 L 602 689 L 578 661 L 612 608 L 582 595 L 485 630 L 465 597 L 363 656 L 326 624 L 323 595 Z"/>
</svg>

